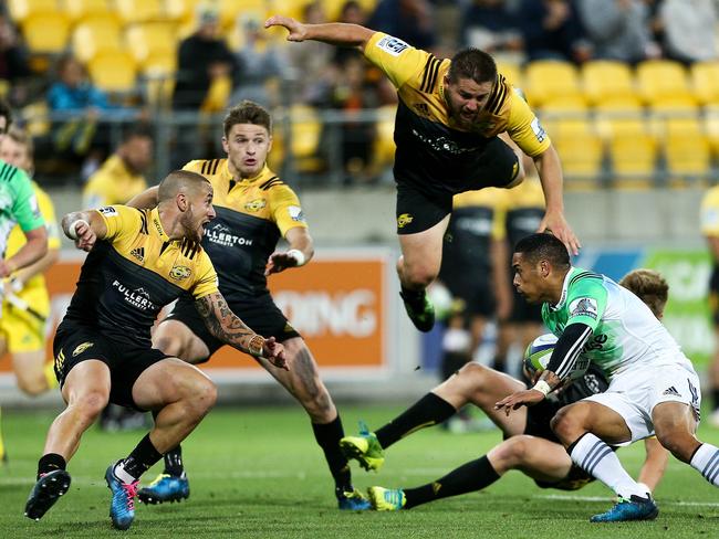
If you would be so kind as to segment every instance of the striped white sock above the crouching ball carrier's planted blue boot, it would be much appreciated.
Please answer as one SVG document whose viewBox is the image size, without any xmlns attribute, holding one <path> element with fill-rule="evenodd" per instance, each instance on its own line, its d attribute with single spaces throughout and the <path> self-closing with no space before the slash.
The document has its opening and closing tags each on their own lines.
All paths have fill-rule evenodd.
<svg viewBox="0 0 719 539">
<path fill-rule="evenodd" d="M 648 493 L 622 467 L 622 463 L 607 444 L 587 432 L 572 447 L 572 462 L 596 477 L 623 498 L 636 495 L 646 498 Z"/>
</svg>

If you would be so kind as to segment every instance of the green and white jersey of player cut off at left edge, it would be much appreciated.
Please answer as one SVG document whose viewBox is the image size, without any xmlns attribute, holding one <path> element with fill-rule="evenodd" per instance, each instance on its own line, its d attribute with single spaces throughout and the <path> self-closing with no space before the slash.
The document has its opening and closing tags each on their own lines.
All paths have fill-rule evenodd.
<svg viewBox="0 0 719 539">
<path fill-rule="evenodd" d="M 3 257 L 15 223 L 23 232 L 45 225 L 28 175 L 0 160 L 0 254 Z"/>
</svg>

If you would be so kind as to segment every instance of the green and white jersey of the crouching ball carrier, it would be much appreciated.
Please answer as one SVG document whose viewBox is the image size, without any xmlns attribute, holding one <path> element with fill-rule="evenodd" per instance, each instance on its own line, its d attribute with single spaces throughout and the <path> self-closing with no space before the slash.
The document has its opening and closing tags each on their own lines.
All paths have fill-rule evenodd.
<svg viewBox="0 0 719 539">
<path fill-rule="evenodd" d="M 571 324 L 590 326 L 592 336 L 581 358 L 609 379 L 638 364 L 691 366 L 649 307 L 605 275 L 570 268 L 560 302 L 542 305 L 542 318 L 558 337 Z"/>
</svg>

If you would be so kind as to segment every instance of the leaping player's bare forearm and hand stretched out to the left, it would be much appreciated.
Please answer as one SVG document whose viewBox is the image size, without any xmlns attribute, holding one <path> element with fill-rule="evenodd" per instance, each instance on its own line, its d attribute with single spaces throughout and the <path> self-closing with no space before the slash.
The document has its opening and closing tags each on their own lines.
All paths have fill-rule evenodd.
<svg viewBox="0 0 719 539">
<path fill-rule="evenodd" d="M 369 38 L 375 33 L 359 24 L 329 22 L 325 24 L 304 24 L 291 17 L 274 15 L 264 22 L 264 28 L 284 27 L 288 41 L 322 41 L 331 45 L 356 46 L 364 50 Z"/>
</svg>

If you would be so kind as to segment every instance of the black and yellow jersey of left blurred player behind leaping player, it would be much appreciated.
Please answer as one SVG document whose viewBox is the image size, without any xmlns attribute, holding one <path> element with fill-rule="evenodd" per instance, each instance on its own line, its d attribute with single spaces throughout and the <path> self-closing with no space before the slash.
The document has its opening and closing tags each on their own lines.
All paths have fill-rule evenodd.
<svg viewBox="0 0 719 539">
<path fill-rule="evenodd" d="M 439 274 L 444 282 L 478 282 L 488 277 L 492 241 L 503 235 L 499 212 L 503 198 L 503 189 L 492 188 L 454 197 Z"/>
</svg>

